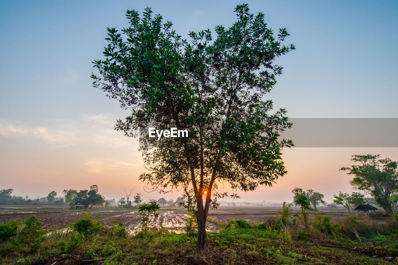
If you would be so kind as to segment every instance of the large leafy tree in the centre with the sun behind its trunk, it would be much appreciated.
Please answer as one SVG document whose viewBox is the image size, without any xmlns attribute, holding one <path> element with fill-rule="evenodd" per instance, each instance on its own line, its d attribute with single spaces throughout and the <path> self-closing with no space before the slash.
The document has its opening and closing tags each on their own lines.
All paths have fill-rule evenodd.
<svg viewBox="0 0 398 265">
<path fill-rule="evenodd" d="M 185 208 L 195 212 L 197 247 L 206 245 L 209 208 L 217 208 L 219 185 L 255 190 L 287 173 L 281 159 L 291 140 L 278 139 L 291 128 L 286 110 L 263 100 L 281 75 L 275 59 L 295 49 L 281 45 L 289 34 L 279 29 L 275 38 L 264 14 L 236 6 L 237 21 L 229 28 L 189 32 L 188 43 L 172 23 L 127 10 L 130 26 L 121 33 L 108 28 L 105 59 L 94 60 L 99 75 L 93 86 L 131 110 L 115 129 L 135 137 L 149 173 L 140 179 L 158 192 L 181 189 Z M 122 36 L 123 34 L 123 36 Z M 150 137 L 148 125 L 187 130 L 188 137 Z M 203 204 L 204 201 L 204 204 Z"/>
</svg>

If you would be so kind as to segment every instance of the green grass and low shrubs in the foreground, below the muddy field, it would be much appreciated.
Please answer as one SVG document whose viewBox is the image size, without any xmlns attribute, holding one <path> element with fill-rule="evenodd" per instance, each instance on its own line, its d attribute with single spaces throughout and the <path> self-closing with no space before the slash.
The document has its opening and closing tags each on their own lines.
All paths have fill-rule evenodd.
<svg viewBox="0 0 398 265">
<path fill-rule="evenodd" d="M 290 216 L 290 221 L 287 216 L 282 226 L 279 219 L 274 224 L 230 221 L 220 232 L 208 232 L 208 247 L 203 251 L 195 249 L 195 233 L 175 234 L 160 228 L 130 235 L 123 224 L 105 227 L 88 214 L 66 231 L 48 233 L 37 218 L 31 217 L 25 222 L 0 224 L 0 263 L 53 263 L 77 255 L 81 259 L 100 259 L 97 263 L 105 265 L 389 263 L 359 251 L 325 247 L 320 241 L 373 247 L 393 257 L 398 255 L 396 217 L 387 224 L 354 217 L 332 224 L 328 217 L 318 214 L 304 228 L 299 216 Z"/>
</svg>

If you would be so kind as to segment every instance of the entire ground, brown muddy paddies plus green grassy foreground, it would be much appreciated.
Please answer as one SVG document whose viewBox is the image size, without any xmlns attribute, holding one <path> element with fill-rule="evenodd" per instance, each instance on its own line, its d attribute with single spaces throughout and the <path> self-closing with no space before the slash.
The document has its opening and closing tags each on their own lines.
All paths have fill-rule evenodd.
<svg viewBox="0 0 398 265">
<path fill-rule="evenodd" d="M 178 207 L 162 207 L 159 218 L 150 220 L 150 230 L 142 232 L 136 209 L 92 208 L 84 215 L 85 210 L 65 207 L 0 206 L 0 236 L 15 233 L 0 240 L 0 264 L 398 263 L 396 217 L 354 218 L 344 208 L 320 208 L 322 215 L 310 212 L 304 226 L 299 209 L 293 208 L 281 225 L 281 210 L 210 210 L 208 248 L 199 251 L 195 228 L 186 230 L 190 216 Z M 31 218 L 33 214 L 42 224 Z M 33 222 L 25 221 L 28 218 Z"/>
</svg>

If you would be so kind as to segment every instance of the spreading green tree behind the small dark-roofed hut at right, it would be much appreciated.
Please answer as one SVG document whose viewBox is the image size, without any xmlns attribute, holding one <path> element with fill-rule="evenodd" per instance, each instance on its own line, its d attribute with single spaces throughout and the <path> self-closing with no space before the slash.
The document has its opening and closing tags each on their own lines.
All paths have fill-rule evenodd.
<svg viewBox="0 0 398 265">
<path fill-rule="evenodd" d="M 350 184 L 358 190 L 369 192 L 388 213 L 392 213 L 391 195 L 398 189 L 397 162 L 380 155 L 353 155 L 351 161 L 359 165 L 342 167 L 354 175 Z"/>
</svg>

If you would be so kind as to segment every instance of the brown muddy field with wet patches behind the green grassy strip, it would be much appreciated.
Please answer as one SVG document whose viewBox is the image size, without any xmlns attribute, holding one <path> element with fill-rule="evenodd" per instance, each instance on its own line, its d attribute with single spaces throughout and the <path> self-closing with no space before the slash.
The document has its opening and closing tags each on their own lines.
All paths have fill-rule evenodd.
<svg viewBox="0 0 398 265">
<path fill-rule="evenodd" d="M 226 207 L 220 206 L 217 210 L 209 211 L 209 221 L 207 222 L 208 231 L 218 231 L 222 227 L 219 222 L 226 224 L 228 220 L 245 219 L 251 223 L 267 222 L 269 218 L 277 218 L 280 214 L 279 207 Z M 293 209 L 298 212 L 298 209 Z M 43 223 L 46 229 L 54 228 L 55 225 L 65 228 L 68 223 L 76 222 L 78 215 L 83 210 L 69 210 L 61 207 L 34 207 L 34 206 L 0 206 L 0 222 L 8 222 L 12 220 L 25 220 L 33 214 Z M 93 214 L 98 214 L 104 225 L 111 225 L 115 222 L 122 222 L 130 232 L 140 230 L 140 216 L 135 209 L 120 208 L 93 208 L 90 210 Z M 348 215 L 345 208 L 339 209 L 319 209 L 319 212 L 326 216 L 330 216 L 334 223 Z M 162 208 L 159 210 L 159 218 L 151 220 L 150 228 L 164 227 L 170 231 L 181 232 L 185 227 L 185 222 L 189 215 L 185 210 L 180 208 Z M 214 222 L 218 221 L 218 222 Z M 213 222 L 212 222 L 213 221 Z"/>
</svg>

